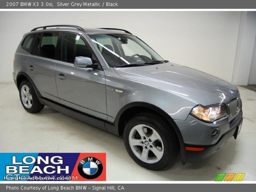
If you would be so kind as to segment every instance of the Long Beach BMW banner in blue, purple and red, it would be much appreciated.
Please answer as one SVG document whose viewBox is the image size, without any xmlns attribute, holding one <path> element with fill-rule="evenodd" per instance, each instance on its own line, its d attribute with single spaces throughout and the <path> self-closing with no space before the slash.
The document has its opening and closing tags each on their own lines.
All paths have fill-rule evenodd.
<svg viewBox="0 0 256 192">
<path fill-rule="evenodd" d="M 0 181 L 106 181 L 106 153 L 0 153 Z"/>
</svg>

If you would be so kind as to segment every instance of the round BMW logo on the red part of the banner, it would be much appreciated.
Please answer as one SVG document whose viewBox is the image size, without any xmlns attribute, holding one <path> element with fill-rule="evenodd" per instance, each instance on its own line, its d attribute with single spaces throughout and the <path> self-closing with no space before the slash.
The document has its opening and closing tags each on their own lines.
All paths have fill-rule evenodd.
<svg viewBox="0 0 256 192">
<path fill-rule="evenodd" d="M 95 157 L 86 157 L 80 160 L 77 166 L 78 173 L 85 179 L 95 179 L 102 173 L 103 166 Z"/>
</svg>

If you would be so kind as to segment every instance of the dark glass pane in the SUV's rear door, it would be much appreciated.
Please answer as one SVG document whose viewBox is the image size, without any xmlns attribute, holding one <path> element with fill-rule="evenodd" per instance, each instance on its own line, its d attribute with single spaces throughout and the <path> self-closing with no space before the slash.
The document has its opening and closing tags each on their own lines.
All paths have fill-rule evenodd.
<svg viewBox="0 0 256 192">
<path fill-rule="evenodd" d="M 55 59 L 58 43 L 58 32 L 43 33 L 39 48 L 39 56 Z"/>
</svg>

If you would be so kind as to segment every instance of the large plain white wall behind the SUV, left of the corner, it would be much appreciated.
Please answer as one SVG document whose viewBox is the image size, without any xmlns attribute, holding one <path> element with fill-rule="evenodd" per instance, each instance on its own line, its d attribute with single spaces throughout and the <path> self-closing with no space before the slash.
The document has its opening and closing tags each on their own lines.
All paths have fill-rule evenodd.
<svg viewBox="0 0 256 192">
<path fill-rule="evenodd" d="M 0 82 L 11 82 L 22 35 L 37 26 L 124 28 L 164 59 L 231 81 L 240 12 L 0 12 Z"/>
</svg>

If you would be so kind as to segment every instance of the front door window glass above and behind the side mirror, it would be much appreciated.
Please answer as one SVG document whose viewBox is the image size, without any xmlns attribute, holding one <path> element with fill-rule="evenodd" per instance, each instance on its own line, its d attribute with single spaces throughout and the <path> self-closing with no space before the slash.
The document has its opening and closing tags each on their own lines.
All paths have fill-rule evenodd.
<svg viewBox="0 0 256 192">
<path fill-rule="evenodd" d="M 62 61 L 69 63 L 74 63 L 78 56 L 89 57 L 92 61 L 96 60 L 87 42 L 81 36 L 71 33 L 63 33 L 61 56 Z"/>
</svg>

